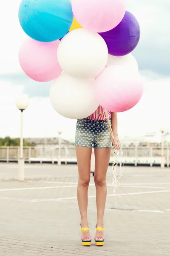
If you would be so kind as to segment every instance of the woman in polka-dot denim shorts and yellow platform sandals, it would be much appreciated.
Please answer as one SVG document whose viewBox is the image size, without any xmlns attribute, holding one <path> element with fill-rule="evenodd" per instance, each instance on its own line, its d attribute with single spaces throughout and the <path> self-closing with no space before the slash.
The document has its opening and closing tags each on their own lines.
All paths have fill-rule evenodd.
<svg viewBox="0 0 170 256">
<path fill-rule="evenodd" d="M 88 229 L 88 186 L 91 171 L 91 151 L 95 149 L 95 174 L 97 224 L 95 242 L 96 246 L 104 245 L 103 215 L 107 195 L 106 173 L 108 170 L 111 148 L 118 150 L 120 142 L 117 132 L 117 113 L 108 111 L 110 125 L 112 126 L 114 140 L 111 137 L 105 110 L 99 108 L 85 119 L 77 120 L 76 127 L 76 154 L 79 170 L 77 186 L 77 200 L 81 215 L 81 239 L 83 246 L 91 245 L 91 236 Z"/>
</svg>

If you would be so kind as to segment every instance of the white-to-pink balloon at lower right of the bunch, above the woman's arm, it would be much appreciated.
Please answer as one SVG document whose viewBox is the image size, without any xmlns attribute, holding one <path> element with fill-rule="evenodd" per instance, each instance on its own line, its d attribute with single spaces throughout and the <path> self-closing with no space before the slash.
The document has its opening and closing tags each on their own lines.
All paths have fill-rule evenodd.
<svg viewBox="0 0 170 256">
<path fill-rule="evenodd" d="M 133 108 L 142 94 L 142 77 L 124 65 L 106 67 L 97 77 L 96 100 L 108 111 L 124 112 Z"/>
</svg>

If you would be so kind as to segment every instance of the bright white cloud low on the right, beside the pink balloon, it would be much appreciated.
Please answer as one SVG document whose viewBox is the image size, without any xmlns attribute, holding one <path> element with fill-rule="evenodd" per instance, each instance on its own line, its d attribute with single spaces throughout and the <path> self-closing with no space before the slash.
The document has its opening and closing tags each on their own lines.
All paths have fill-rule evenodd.
<svg viewBox="0 0 170 256">
<path fill-rule="evenodd" d="M 159 132 L 170 128 L 170 77 L 144 77 L 145 90 L 141 101 L 130 111 L 119 113 L 119 132 L 127 135 L 144 135 L 147 131 Z"/>
</svg>

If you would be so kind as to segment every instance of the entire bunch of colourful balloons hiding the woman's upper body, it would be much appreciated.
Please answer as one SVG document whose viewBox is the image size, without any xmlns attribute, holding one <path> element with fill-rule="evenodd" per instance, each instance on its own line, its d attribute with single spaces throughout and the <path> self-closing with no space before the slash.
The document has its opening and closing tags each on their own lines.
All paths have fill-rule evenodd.
<svg viewBox="0 0 170 256">
<path fill-rule="evenodd" d="M 36 81 L 55 79 L 50 99 L 59 114 L 85 118 L 98 105 L 121 112 L 139 102 L 143 84 L 130 52 L 140 27 L 125 0 L 23 0 L 19 20 L 29 36 L 21 67 Z"/>
</svg>

